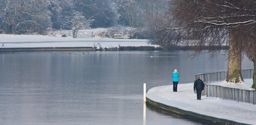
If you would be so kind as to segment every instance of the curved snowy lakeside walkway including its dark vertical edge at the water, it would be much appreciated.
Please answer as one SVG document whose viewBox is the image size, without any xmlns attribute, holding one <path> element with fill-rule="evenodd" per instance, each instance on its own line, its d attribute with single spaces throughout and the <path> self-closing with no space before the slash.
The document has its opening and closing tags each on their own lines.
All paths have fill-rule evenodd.
<svg viewBox="0 0 256 125">
<path fill-rule="evenodd" d="M 247 83 L 252 79 L 245 79 Z M 216 97 L 202 96 L 197 100 L 193 91 L 194 83 L 178 84 L 149 89 L 147 105 L 199 121 L 219 122 L 232 125 L 256 125 L 256 105 Z"/>
</svg>

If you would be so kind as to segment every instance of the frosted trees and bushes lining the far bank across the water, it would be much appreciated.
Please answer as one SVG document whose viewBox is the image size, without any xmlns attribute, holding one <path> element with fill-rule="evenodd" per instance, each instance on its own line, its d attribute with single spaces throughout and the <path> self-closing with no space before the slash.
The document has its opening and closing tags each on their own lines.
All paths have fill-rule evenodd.
<svg viewBox="0 0 256 125">
<path fill-rule="evenodd" d="M 54 30 L 105 28 L 100 37 L 155 37 L 167 0 L 0 0 L 0 33 L 49 35 Z M 125 32 L 123 32 L 125 31 Z M 111 34 L 109 34 L 111 33 Z"/>
</svg>

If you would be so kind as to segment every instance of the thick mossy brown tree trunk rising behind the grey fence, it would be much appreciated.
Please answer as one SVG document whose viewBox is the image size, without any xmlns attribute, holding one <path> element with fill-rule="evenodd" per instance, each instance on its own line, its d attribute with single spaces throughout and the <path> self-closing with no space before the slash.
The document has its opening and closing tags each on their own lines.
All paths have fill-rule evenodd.
<svg viewBox="0 0 256 125">
<path fill-rule="evenodd" d="M 242 76 L 242 42 L 239 39 L 239 32 L 237 30 L 230 30 L 229 32 L 229 63 L 227 82 L 238 83 L 243 80 Z"/>
</svg>

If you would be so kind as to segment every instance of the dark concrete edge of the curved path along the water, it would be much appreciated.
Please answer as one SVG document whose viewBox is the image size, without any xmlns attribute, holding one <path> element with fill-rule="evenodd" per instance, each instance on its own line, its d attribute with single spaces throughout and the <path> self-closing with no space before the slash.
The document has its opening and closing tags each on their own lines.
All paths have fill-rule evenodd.
<svg viewBox="0 0 256 125">
<path fill-rule="evenodd" d="M 180 115 L 183 116 L 185 118 L 189 118 L 189 119 L 194 119 L 197 121 L 202 121 L 202 122 L 211 122 L 211 123 L 219 123 L 219 124 L 227 124 L 227 125 L 249 125 L 249 124 L 245 124 L 245 123 L 239 123 L 239 122 L 234 122 L 234 121 L 230 121 L 230 120 L 226 120 L 226 119 L 221 119 L 221 118 L 216 118 L 216 117 L 212 117 L 212 116 L 206 116 L 206 115 L 201 115 L 198 113 L 194 113 L 191 111 L 186 111 L 186 110 L 182 110 L 176 107 L 172 107 L 172 106 L 168 106 L 159 102 L 154 102 L 152 100 L 150 100 L 149 98 L 146 97 L 146 104 L 166 111 L 166 112 L 170 112 L 176 115 Z"/>
</svg>

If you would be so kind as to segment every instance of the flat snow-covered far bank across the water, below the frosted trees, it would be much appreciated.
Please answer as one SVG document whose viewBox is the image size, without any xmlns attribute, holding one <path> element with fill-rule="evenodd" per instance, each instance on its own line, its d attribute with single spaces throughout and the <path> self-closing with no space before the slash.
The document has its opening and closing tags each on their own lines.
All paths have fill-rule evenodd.
<svg viewBox="0 0 256 125">
<path fill-rule="evenodd" d="M 32 47 L 92 47 L 102 48 L 119 46 L 153 46 L 145 39 L 113 39 L 113 38 L 72 38 L 40 35 L 7 35 L 0 34 L 2 48 L 32 48 Z M 4 44 L 4 45 L 3 45 Z M 98 49 L 98 48 L 97 48 Z"/>
</svg>

